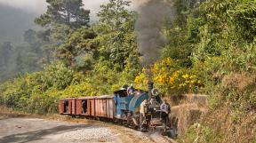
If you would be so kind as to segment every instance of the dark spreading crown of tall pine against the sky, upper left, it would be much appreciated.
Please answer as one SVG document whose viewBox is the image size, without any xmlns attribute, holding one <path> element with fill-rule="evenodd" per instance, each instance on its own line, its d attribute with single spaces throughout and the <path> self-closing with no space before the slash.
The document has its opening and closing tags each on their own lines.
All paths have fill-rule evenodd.
<svg viewBox="0 0 256 143">
<path fill-rule="evenodd" d="M 42 27 L 65 24 L 72 28 L 88 27 L 90 11 L 84 10 L 82 0 L 46 0 L 47 12 L 35 20 Z"/>
</svg>

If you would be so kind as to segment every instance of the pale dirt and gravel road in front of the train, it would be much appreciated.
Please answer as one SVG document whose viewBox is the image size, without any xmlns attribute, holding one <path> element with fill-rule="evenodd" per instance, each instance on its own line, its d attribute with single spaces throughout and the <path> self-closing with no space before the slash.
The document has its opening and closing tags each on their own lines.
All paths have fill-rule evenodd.
<svg viewBox="0 0 256 143">
<path fill-rule="evenodd" d="M 69 123 L 0 115 L 0 143 L 154 143 L 171 142 L 158 136 L 111 123 Z"/>
</svg>

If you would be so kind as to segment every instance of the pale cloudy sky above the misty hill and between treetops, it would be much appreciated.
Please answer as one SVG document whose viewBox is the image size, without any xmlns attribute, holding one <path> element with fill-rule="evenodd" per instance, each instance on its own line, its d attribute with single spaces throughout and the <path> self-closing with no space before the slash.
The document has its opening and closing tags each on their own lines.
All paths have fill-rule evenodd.
<svg viewBox="0 0 256 143">
<path fill-rule="evenodd" d="M 83 0 L 83 3 L 84 7 L 91 10 L 94 16 L 99 11 L 100 4 L 108 3 L 108 0 Z M 47 5 L 45 0 L 0 0 L 0 4 L 8 4 L 38 14 L 44 13 Z"/>
</svg>

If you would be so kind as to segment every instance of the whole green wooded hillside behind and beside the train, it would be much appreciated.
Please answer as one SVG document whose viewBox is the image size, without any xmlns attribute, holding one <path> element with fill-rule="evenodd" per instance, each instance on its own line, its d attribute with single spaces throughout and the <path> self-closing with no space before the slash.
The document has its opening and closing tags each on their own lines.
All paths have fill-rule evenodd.
<svg viewBox="0 0 256 143">
<path fill-rule="evenodd" d="M 168 2 L 172 19 L 161 20 L 159 31 L 164 44 L 158 60 L 147 67 L 140 64 L 144 55 L 135 28 L 140 15 L 127 9 L 129 2 L 110 0 L 101 6 L 100 20 L 89 25 L 82 1 L 55 1 L 49 0 L 51 8 L 35 20 L 46 30 L 27 35 L 36 37 L 28 42 L 39 44 L 36 61 L 44 63 L 44 70 L 1 83 L 1 104 L 56 113 L 60 98 L 111 93 L 130 83 L 144 89 L 150 69 L 156 87 L 168 97 L 209 95 L 207 113 L 180 142 L 256 141 L 255 1 Z"/>
</svg>

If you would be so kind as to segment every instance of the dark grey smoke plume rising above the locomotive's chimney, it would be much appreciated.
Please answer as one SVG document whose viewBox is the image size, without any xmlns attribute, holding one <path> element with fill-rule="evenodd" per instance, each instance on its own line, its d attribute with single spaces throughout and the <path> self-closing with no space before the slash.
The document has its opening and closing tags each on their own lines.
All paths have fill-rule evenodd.
<svg viewBox="0 0 256 143">
<path fill-rule="evenodd" d="M 149 66 L 159 57 L 166 43 L 161 29 L 165 20 L 170 20 L 172 11 L 165 0 L 133 0 L 139 12 L 135 28 L 138 34 L 142 64 Z"/>
</svg>

